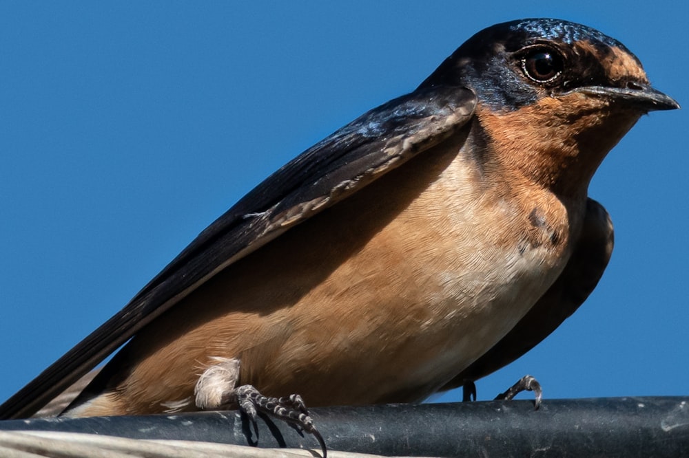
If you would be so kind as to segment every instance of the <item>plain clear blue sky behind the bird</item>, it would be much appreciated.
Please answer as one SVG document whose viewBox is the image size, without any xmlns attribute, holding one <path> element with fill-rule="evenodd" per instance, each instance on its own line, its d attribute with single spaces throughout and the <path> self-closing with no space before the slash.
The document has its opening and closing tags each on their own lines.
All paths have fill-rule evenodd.
<svg viewBox="0 0 689 458">
<path fill-rule="evenodd" d="M 493 23 L 593 26 L 689 108 L 686 5 L 553 3 L 0 3 L 0 400 L 261 179 Z M 608 155 L 590 186 L 615 222 L 606 274 L 480 399 L 526 373 L 546 398 L 689 394 L 688 116 L 651 113 Z"/>
</svg>

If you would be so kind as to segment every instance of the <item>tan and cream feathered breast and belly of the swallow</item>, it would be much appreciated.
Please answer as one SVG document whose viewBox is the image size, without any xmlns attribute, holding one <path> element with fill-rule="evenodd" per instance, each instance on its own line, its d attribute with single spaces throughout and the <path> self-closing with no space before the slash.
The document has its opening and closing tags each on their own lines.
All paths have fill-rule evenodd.
<svg viewBox="0 0 689 458">
<path fill-rule="evenodd" d="M 487 179 L 456 149 L 429 151 L 158 318 L 125 348 L 134 369 L 119 393 L 191 399 L 220 357 L 240 359 L 240 383 L 312 406 L 420 400 L 526 314 L 562 271 L 569 234 L 544 190 Z"/>
</svg>

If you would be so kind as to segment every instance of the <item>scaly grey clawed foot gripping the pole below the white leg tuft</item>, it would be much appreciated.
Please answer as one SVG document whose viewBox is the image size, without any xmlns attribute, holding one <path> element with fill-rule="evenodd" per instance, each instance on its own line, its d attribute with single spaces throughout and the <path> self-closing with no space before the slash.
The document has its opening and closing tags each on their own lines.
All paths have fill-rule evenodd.
<svg viewBox="0 0 689 458">
<path fill-rule="evenodd" d="M 254 431 L 258 436 L 258 426 L 256 416 L 258 412 L 265 413 L 271 417 L 282 420 L 283 422 L 301 428 L 306 433 L 313 435 L 318 440 L 320 448 L 323 450 L 323 458 L 327 457 L 327 448 L 322 435 L 313 424 L 313 418 L 304 404 L 300 395 L 289 395 L 284 397 L 268 397 L 262 395 L 252 385 L 242 385 L 234 389 L 239 410 L 247 415 L 254 424 Z"/>
</svg>

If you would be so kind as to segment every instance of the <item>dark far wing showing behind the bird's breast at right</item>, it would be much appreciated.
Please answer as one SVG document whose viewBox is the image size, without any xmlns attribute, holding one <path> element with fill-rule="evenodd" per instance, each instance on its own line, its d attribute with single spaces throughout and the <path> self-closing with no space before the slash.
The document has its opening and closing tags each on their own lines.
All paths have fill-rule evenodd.
<svg viewBox="0 0 689 458">
<path fill-rule="evenodd" d="M 605 208 L 586 201 L 582 234 L 562 274 L 524 318 L 489 351 L 442 390 L 474 382 L 513 362 L 548 337 L 582 305 L 601 279 L 613 253 L 613 222 Z"/>
</svg>

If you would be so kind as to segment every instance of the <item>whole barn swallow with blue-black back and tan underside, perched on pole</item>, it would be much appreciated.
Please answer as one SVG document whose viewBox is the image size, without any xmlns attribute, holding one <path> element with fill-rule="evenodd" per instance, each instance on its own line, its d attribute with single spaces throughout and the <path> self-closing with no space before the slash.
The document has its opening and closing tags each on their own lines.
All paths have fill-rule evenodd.
<svg viewBox="0 0 689 458">
<path fill-rule="evenodd" d="M 588 183 L 641 115 L 677 108 L 597 30 L 482 30 L 251 190 L 0 417 L 125 342 L 63 415 L 269 405 L 305 424 L 299 397 L 262 396 L 415 402 L 473 382 L 593 290 L 613 226 Z"/>
</svg>

